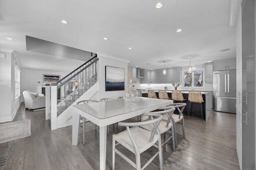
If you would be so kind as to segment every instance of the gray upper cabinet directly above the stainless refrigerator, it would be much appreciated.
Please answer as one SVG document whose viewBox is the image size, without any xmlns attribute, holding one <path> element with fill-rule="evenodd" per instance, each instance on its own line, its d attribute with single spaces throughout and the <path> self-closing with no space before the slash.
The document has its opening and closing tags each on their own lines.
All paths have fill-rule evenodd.
<svg viewBox="0 0 256 170">
<path fill-rule="evenodd" d="M 213 61 L 213 71 L 235 70 L 235 69 L 236 69 L 236 58 Z"/>
</svg>

